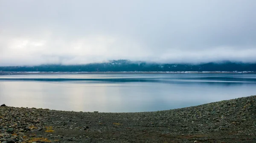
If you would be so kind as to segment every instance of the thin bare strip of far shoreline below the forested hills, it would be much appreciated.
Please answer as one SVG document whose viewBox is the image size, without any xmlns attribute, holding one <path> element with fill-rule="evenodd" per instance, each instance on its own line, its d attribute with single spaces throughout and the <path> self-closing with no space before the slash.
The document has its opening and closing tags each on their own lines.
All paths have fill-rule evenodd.
<svg viewBox="0 0 256 143">
<path fill-rule="evenodd" d="M 29 75 L 29 74 L 256 74 L 255 71 L 243 72 L 0 72 L 0 75 Z"/>
</svg>

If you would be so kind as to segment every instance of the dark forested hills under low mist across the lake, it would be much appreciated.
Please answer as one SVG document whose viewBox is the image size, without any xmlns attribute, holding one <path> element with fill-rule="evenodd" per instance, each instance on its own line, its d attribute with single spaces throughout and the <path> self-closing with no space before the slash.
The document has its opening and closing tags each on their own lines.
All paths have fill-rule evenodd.
<svg viewBox="0 0 256 143">
<path fill-rule="evenodd" d="M 202 64 L 159 64 L 133 62 L 130 60 L 111 60 L 108 63 L 84 65 L 40 65 L 40 66 L 2 66 L 0 71 L 11 72 L 243 72 L 256 71 L 256 63 L 202 63 Z"/>
</svg>

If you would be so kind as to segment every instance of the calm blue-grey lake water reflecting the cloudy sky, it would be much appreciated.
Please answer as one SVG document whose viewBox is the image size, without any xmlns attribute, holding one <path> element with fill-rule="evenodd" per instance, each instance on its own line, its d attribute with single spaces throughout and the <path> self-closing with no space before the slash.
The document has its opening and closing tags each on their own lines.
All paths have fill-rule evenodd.
<svg viewBox="0 0 256 143">
<path fill-rule="evenodd" d="M 1 75 L 0 104 L 145 112 L 256 95 L 256 74 Z"/>
</svg>

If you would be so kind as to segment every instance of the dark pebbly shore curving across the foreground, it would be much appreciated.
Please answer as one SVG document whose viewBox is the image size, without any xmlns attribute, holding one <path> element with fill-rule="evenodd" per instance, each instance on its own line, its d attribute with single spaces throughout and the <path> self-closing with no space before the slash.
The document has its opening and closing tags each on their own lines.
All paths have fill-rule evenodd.
<svg viewBox="0 0 256 143">
<path fill-rule="evenodd" d="M 256 96 L 158 112 L 0 107 L 0 143 L 256 143 Z"/>
</svg>

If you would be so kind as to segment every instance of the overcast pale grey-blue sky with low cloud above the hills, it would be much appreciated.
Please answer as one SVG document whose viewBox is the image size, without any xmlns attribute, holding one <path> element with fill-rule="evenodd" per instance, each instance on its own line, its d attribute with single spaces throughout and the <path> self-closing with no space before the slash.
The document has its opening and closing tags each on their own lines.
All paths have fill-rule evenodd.
<svg viewBox="0 0 256 143">
<path fill-rule="evenodd" d="M 256 62 L 256 0 L 0 0 L 0 66 Z"/>
</svg>

